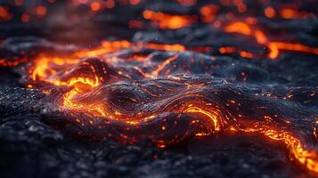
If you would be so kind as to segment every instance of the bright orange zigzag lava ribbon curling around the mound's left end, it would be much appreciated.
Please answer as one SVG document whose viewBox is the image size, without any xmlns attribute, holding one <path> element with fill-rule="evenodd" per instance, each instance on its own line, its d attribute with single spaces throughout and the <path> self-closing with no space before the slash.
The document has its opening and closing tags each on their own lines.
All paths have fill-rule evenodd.
<svg viewBox="0 0 318 178">
<path fill-rule="evenodd" d="M 35 67 L 30 74 L 32 80 L 37 81 L 46 81 L 52 83 L 53 85 L 65 85 L 74 87 L 68 93 L 64 94 L 63 106 L 69 109 L 88 109 L 93 113 L 98 115 L 106 116 L 106 111 L 101 106 L 91 106 L 77 104 L 72 101 L 72 99 L 77 96 L 78 93 L 83 93 L 84 91 L 91 90 L 95 86 L 100 85 L 100 79 L 98 77 L 89 78 L 89 77 L 71 77 L 67 81 L 61 81 L 59 78 L 54 78 L 53 76 L 57 74 L 60 70 L 65 69 L 69 65 L 76 64 L 80 61 L 81 58 L 92 57 L 92 56 L 101 56 L 105 53 L 111 53 L 118 51 L 120 49 L 125 49 L 128 47 L 145 47 L 148 49 L 156 49 L 160 51 L 184 51 L 185 47 L 181 44 L 131 44 L 128 41 L 102 41 L 102 45 L 93 49 L 84 49 L 79 50 L 76 53 L 69 55 L 68 57 L 49 57 L 45 54 L 38 56 Z M 174 61 L 178 56 L 175 55 L 172 58 L 165 61 L 162 65 L 158 66 L 158 69 L 154 70 L 151 75 L 144 74 L 146 77 L 157 77 L 159 71 L 164 69 L 165 66 Z M 142 59 L 143 60 L 143 59 Z M 1 63 L 1 61 L 0 61 Z M 4 61 L 4 64 L 5 61 Z M 3 66 L 4 66 L 3 64 Z M 16 65 L 18 65 L 17 63 Z M 111 117 L 111 116 L 110 116 Z"/>
</svg>

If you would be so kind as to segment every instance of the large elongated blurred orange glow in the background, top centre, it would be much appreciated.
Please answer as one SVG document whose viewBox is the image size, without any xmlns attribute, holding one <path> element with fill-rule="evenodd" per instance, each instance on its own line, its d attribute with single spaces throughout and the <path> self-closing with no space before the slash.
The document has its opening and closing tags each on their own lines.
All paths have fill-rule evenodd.
<svg viewBox="0 0 318 178">
<path fill-rule="evenodd" d="M 171 15 L 163 12 L 153 12 L 145 10 L 143 12 L 143 18 L 146 20 L 152 20 L 159 28 L 184 28 L 192 25 L 197 20 L 196 16 L 191 15 Z"/>
</svg>

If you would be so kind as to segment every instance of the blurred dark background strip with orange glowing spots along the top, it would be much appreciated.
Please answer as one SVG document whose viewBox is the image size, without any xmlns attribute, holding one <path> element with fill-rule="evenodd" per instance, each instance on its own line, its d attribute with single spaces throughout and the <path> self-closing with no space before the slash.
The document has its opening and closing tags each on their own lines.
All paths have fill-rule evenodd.
<svg viewBox="0 0 318 178">
<path fill-rule="evenodd" d="M 290 26 L 299 20 L 314 21 L 317 12 L 315 0 L 1 0 L 0 40 L 43 36 L 88 44 L 101 38 L 130 39 L 137 31 L 221 28 L 234 20 L 271 26 L 274 34 L 281 21 L 289 21 Z M 299 28 L 318 31 L 315 21 L 305 26 Z M 180 30 L 179 34 L 183 33 L 187 31 Z"/>
</svg>

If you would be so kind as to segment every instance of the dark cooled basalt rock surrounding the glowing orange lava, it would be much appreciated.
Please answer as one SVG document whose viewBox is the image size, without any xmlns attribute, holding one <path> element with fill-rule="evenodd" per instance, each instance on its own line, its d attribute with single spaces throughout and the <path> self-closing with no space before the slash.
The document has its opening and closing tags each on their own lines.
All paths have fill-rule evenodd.
<svg viewBox="0 0 318 178">
<path fill-rule="evenodd" d="M 279 4 L 283 3 L 277 3 L 277 5 Z M 60 7 L 57 4 L 55 10 L 58 11 Z M 309 10 L 316 8 L 313 5 L 304 5 L 305 7 Z M 32 62 L 33 57 L 38 53 L 71 53 L 83 47 L 83 44 L 94 46 L 105 36 L 110 39 L 129 39 L 132 42 L 177 43 L 187 46 L 208 45 L 215 49 L 223 45 L 234 45 L 249 49 L 250 52 L 263 54 L 268 50 L 265 46 L 257 44 L 255 40 L 251 40 L 250 37 L 234 34 L 221 36 L 220 34 L 223 32 L 219 29 L 211 29 L 200 23 L 176 30 L 158 31 L 157 28 L 151 28 L 150 24 L 148 24 L 150 27 L 147 30 L 127 28 L 127 20 L 132 17 L 140 17 L 143 9 L 178 14 L 193 13 L 190 7 L 180 7 L 160 1 L 157 4 L 144 3 L 134 8 L 123 7 L 119 10 L 115 8 L 110 12 L 101 12 L 92 20 L 85 21 L 86 23 L 68 24 L 63 20 L 35 21 L 28 24 L 16 21 L 5 22 L 0 25 L 0 35 L 1 38 L 4 38 L 0 47 L 0 59 L 14 61 L 13 56 L 27 56 L 26 59 Z M 123 11 L 127 14 L 131 13 L 132 16 L 128 18 L 120 15 L 118 18 L 117 14 L 121 14 Z M 318 20 L 316 18 L 275 21 L 266 20 L 258 12 L 251 13 L 258 17 L 260 26 L 264 27 L 265 32 L 271 32 L 271 36 L 277 41 L 291 39 L 291 41 L 318 46 L 316 34 Z M 103 30 L 100 30 L 101 28 Z M 131 54 L 132 52 L 128 50 L 115 55 L 124 59 Z M 158 63 L 162 62 L 160 59 L 167 59 L 175 55 L 172 52 L 155 50 L 144 50 L 137 54 L 147 54 L 150 61 Z M 243 108 L 246 109 L 244 110 L 246 115 L 252 113 L 253 107 L 257 108 L 259 103 L 262 103 L 262 106 L 265 103 L 266 106 L 273 107 L 265 109 L 268 113 L 281 114 L 283 119 L 289 118 L 298 128 L 298 130 L 291 129 L 294 132 L 300 130 L 312 134 L 313 126 L 317 127 L 314 125 L 314 118 L 318 116 L 318 94 L 311 96 L 311 93 L 318 91 L 317 55 L 281 52 L 279 60 L 276 61 L 264 58 L 248 60 L 237 54 L 221 55 L 216 51 L 211 53 L 187 51 L 179 52 L 178 55 L 178 59 L 162 70 L 159 76 L 164 77 L 165 73 L 169 71 L 169 75 L 172 77 L 180 77 L 178 75 L 181 73 L 191 74 L 185 75 L 185 77 L 181 75 L 184 78 L 180 77 L 184 80 L 183 82 L 189 83 L 196 83 L 196 80 L 199 80 L 204 83 L 217 84 L 217 82 L 222 83 L 221 81 L 226 80 L 227 84 L 222 85 L 219 89 L 221 95 L 224 98 L 232 96 L 231 91 L 226 91 L 229 88 L 232 88 L 232 91 L 243 91 L 241 100 L 245 101 Z M 216 56 L 216 60 L 211 61 L 208 55 Z M 198 60 L 191 63 L 189 59 L 192 58 Z M 86 61 L 96 66 L 106 65 L 98 63 L 98 58 L 88 58 Z M 74 69 L 77 67 L 80 69 L 80 65 L 78 66 L 75 66 Z M 175 68 L 175 66 L 183 67 Z M 20 67 L 23 68 L 26 65 L 22 64 Z M 65 89 L 55 88 L 50 95 L 46 95 L 40 89 L 26 88 L 25 70 L 20 67 L 0 68 L 1 177 L 267 178 L 314 176 L 309 174 L 297 161 L 290 161 L 289 152 L 284 145 L 258 134 L 218 133 L 200 139 L 190 136 L 183 142 L 169 145 L 166 149 L 158 149 L 153 142 L 147 139 L 142 139 L 134 144 L 117 142 L 116 138 L 103 136 L 105 132 L 107 134 L 108 130 L 93 132 L 95 131 L 94 126 L 98 125 L 88 127 L 77 125 L 69 116 L 71 110 L 57 109 L 55 101 L 61 99 L 61 93 L 65 92 Z M 130 71 L 129 66 L 125 66 L 125 63 L 107 66 L 107 68 L 114 76 L 117 75 L 115 72 L 117 69 Z M 241 76 L 242 71 L 245 72 L 246 78 Z M 138 87 L 152 83 L 164 83 L 160 80 L 143 80 L 137 73 L 134 74 L 134 79 L 138 80 Z M 63 78 L 68 77 L 63 76 Z M 112 83 L 110 77 L 105 78 Z M 99 86 L 96 90 L 104 92 L 103 95 L 86 94 L 79 96 L 77 101 L 84 99 L 96 101 L 96 97 L 101 99 L 103 96 L 107 96 L 107 100 L 113 99 L 116 102 L 117 90 L 125 88 L 125 85 L 130 86 L 126 87 L 126 94 L 134 94 L 136 84 L 131 84 L 126 78 L 121 79 L 123 82 L 118 84 Z M 174 83 L 175 81 L 169 79 L 169 82 Z M 183 88 L 183 82 L 175 82 L 174 85 Z M 269 85 L 273 86 L 273 91 Z M 109 87 L 112 86 L 115 89 L 109 91 Z M 211 91 L 214 91 L 214 86 L 211 84 Z M 299 88 L 299 86 L 301 87 Z M 182 89 L 180 91 L 184 92 Z M 180 93 L 180 91 L 178 92 Z M 272 93 L 279 99 L 275 101 L 266 97 L 258 97 L 253 101 L 251 95 L 256 93 L 260 95 Z M 290 93 L 294 97 L 289 101 L 282 100 Z M 143 93 L 139 94 L 144 96 Z M 168 93 L 164 93 L 164 95 L 169 97 Z M 240 97 L 237 98 L 240 99 Z M 222 101 L 220 102 L 222 103 Z M 148 101 L 149 103 L 151 101 Z M 126 101 L 125 103 L 119 102 L 116 106 L 123 109 L 124 105 L 129 104 L 133 105 Z M 254 114 L 257 116 L 259 113 Z M 173 118 L 173 116 L 175 115 L 172 114 L 168 117 Z M 183 116 L 183 118 L 190 117 L 195 116 Z M 281 120 L 277 122 L 280 123 Z M 110 129 L 112 128 L 110 127 Z M 312 138 L 313 135 L 308 133 L 302 133 L 304 139 L 309 143 L 316 142 Z"/>
</svg>

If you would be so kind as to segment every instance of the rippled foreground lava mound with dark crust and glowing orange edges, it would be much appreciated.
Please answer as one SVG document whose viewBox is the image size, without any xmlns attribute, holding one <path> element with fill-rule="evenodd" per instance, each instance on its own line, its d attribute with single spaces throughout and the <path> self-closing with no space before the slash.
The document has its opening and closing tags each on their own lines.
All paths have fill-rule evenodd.
<svg viewBox="0 0 318 178">
<path fill-rule="evenodd" d="M 301 46 L 294 46 L 298 47 Z M 150 49 L 161 52 L 136 57 L 135 53 Z M 120 53 L 125 50 L 129 53 Z M 69 117 L 74 117 L 78 125 L 98 127 L 94 137 L 111 137 L 119 142 L 151 138 L 162 148 L 191 135 L 263 134 L 285 144 L 291 158 L 297 159 L 308 170 L 318 172 L 317 151 L 307 143 L 309 135 L 302 133 L 294 123 L 306 118 L 306 126 L 313 125 L 315 129 L 317 113 L 306 116 L 301 109 L 289 109 L 282 97 L 264 97 L 264 93 L 249 91 L 246 86 L 238 87 L 226 80 L 212 79 L 208 77 L 210 75 L 192 76 L 194 71 L 186 66 L 196 62 L 208 64 L 217 59 L 184 50 L 180 44 L 115 41 L 103 42 L 96 49 L 77 51 L 66 58 L 42 54 L 35 65 L 29 67 L 30 84 L 36 82 L 38 85 L 42 81 L 68 87 L 68 92 L 57 100 L 59 108 L 66 113 L 86 113 L 86 118 L 77 114 Z M 157 55 L 160 58 L 167 56 L 167 59 L 158 61 Z M 176 66 L 179 63 L 183 64 L 181 68 Z M 180 73 L 188 74 L 180 76 Z M 263 86 L 266 92 L 275 90 L 265 88 Z M 293 90 L 298 93 L 301 88 Z M 315 93 L 318 93 L 316 88 L 311 91 L 312 95 Z M 280 95 L 293 96 L 290 91 Z M 96 119 L 98 126 L 94 124 Z M 316 142 L 315 130 L 312 133 Z"/>
</svg>

